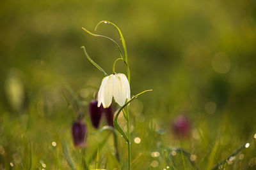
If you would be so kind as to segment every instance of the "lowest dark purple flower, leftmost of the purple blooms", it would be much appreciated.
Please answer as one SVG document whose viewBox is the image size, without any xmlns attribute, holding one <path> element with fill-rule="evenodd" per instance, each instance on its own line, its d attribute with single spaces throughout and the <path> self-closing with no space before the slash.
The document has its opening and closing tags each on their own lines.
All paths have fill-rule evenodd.
<svg viewBox="0 0 256 170">
<path fill-rule="evenodd" d="M 77 121 L 72 125 L 72 137 L 76 147 L 85 147 L 87 138 L 87 128 L 84 122 Z"/>
</svg>

